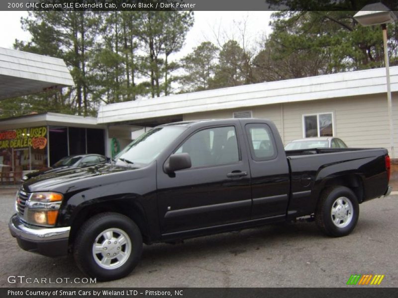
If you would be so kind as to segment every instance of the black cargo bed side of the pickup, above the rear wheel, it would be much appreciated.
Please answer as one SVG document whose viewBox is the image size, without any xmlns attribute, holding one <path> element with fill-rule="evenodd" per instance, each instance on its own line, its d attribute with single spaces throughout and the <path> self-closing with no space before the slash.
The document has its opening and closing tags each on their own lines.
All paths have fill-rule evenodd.
<svg viewBox="0 0 398 298">
<path fill-rule="evenodd" d="M 288 216 L 313 212 L 322 189 L 350 185 L 360 203 L 384 195 L 388 188 L 387 149 L 300 149 L 286 151 L 291 169 Z"/>
</svg>

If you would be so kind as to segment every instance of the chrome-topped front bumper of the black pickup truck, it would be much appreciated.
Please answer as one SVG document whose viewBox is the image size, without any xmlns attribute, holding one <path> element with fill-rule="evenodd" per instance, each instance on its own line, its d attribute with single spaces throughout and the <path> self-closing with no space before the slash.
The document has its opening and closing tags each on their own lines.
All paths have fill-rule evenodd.
<svg viewBox="0 0 398 298">
<path fill-rule="evenodd" d="M 39 227 L 26 224 L 14 214 L 8 228 L 17 239 L 20 248 L 45 256 L 60 256 L 68 253 L 70 226 Z"/>
</svg>

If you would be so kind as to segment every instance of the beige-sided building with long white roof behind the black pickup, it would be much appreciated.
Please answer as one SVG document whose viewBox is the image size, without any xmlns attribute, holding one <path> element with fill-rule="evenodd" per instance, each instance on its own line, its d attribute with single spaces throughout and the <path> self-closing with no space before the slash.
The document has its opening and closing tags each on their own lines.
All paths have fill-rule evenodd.
<svg viewBox="0 0 398 298">
<path fill-rule="evenodd" d="M 390 73 L 398 140 L 398 67 Z M 332 134 L 349 147 L 390 149 L 386 92 L 386 72 L 380 68 L 103 105 L 98 124 L 108 125 L 108 137 L 120 137 L 125 144 L 130 131 L 145 126 L 245 116 L 274 121 L 285 144 Z M 124 136 L 112 135 L 117 126 L 125 128 Z"/>
</svg>

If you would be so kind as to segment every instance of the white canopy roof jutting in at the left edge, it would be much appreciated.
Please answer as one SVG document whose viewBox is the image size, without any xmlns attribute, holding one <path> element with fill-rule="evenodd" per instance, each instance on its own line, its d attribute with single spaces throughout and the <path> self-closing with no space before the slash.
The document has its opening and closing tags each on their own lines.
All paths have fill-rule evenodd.
<svg viewBox="0 0 398 298">
<path fill-rule="evenodd" d="M 73 85 L 62 59 L 0 48 L 0 100 Z"/>
</svg>

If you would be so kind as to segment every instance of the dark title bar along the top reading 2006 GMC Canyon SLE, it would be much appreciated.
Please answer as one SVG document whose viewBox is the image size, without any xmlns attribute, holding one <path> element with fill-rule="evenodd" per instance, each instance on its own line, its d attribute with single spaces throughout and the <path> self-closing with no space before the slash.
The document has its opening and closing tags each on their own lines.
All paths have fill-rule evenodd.
<svg viewBox="0 0 398 298">
<path fill-rule="evenodd" d="M 358 11 L 376 0 L 1 0 L 0 10 L 350 10 Z M 384 0 L 398 10 L 397 0 Z"/>
</svg>

